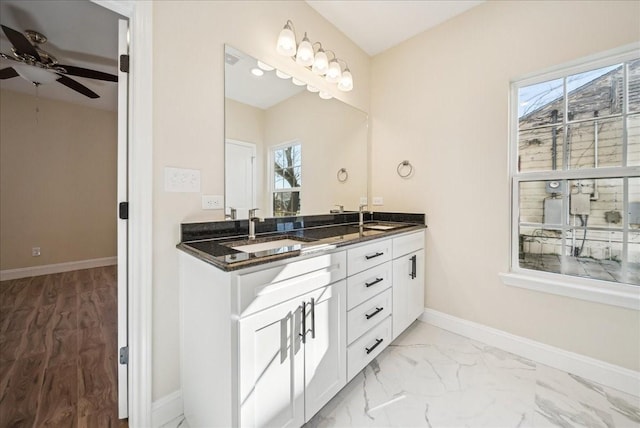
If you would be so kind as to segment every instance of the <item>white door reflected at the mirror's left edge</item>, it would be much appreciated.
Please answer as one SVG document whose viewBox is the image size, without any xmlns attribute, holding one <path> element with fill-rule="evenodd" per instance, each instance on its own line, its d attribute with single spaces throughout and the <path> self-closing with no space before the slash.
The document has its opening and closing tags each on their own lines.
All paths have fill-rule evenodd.
<svg viewBox="0 0 640 428">
<path fill-rule="evenodd" d="M 247 218 L 256 205 L 256 146 L 227 140 L 225 144 L 225 214 L 235 208 L 236 218 Z"/>
</svg>

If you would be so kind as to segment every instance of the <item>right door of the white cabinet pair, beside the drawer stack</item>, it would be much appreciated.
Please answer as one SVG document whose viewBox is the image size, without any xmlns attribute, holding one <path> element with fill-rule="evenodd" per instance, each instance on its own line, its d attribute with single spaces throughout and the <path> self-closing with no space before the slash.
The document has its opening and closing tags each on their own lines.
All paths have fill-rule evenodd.
<svg viewBox="0 0 640 428">
<path fill-rule="evenodd" d="M 346 281 L 307 294 L 305 415 L 311 419 L 347 383 Z M 313 318 L 313 320 L 311 319 Z M 311 333 L 314 331 L 314 333 Z"/>
</svg>

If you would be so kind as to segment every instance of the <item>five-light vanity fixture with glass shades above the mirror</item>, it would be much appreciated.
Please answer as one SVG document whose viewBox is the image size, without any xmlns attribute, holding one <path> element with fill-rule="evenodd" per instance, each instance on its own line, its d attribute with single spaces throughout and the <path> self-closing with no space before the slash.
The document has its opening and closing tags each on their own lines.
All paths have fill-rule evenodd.
<svg viewBox="0 0 640 428">
<path fill-rule="evenodd" d="M 306 32 L 298 44 L 291 20 L 287 20 L 284 28 L 280 31 L 276 51 L 280 55 L 291 57 L 297 64 L 310 69 L 315 74 L 324 76 L 327 82 L 336 83 L 340 91 L 348 92 L 353 89 L 353 76 L 346 61 L 338 58 L 333 51 L 325 51 L 320 42 L 311 43 Z M 327 52 L 333 58 L 329 59 Z M 344 64 L 344 68 L 341 63 Z M 322 98 L 325 98 L 326 95 L 325 91 L 321 93 Z"/>
</svg>

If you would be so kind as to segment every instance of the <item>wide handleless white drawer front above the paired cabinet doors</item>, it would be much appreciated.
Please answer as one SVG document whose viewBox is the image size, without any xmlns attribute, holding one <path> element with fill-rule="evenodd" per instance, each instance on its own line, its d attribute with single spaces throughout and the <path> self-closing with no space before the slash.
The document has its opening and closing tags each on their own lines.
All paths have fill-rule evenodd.
<svg viewBox="0 0 640 428">
<path fill-rule="evenodd" d="M 238 295 L 232 296 L 236 314 L 244 317 L 344 279 L 346 261 L 345 252 L 340 251 L 241 273 L 236 277 Z"/>
</svg>

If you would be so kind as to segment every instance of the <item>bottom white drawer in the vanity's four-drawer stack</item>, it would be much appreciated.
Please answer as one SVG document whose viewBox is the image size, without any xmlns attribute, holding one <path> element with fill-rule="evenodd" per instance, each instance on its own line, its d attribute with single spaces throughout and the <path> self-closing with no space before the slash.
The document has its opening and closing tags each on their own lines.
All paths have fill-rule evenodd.
<svg viewBox="0 0 640 428">
<path fill-rule="evenodd" d="M 391 343 L 391 317 L 381 322 L 347 348 L 347 382 Z"/>
</svg>

